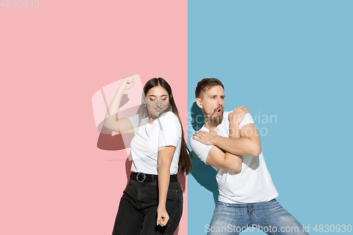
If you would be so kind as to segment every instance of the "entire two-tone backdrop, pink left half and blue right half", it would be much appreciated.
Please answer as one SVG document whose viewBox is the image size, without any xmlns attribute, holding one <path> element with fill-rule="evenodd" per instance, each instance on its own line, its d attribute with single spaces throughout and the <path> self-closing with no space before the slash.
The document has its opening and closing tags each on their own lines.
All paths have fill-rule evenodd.
<svg viewBox="0 0 353 235">
<path fill-rule="evenodd" d="M 220 78 L 225 110 L 251 111 L 277 200 L 310 234 L 353 233 L 352 9 L 0 0 L 0 234 L 111 234 L 130 163 L 119 135 L 97 131 L 92 97 L 136 74 L 172 85 L 188 140 L 202 125 L 196 83 Z M 217 201 L 215 171 L 193 168 L 179 235 L 205 234 Z"/>
</svg>

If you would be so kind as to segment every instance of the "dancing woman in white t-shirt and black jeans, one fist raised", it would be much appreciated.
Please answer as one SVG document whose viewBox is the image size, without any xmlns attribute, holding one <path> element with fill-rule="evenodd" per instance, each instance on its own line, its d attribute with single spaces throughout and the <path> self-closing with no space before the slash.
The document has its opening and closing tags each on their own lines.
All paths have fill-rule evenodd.
<svg viewBox="0 0 353 235">
<path fill-rule="evenodd" d="M 104 126 L 135 134 L 128 186 L 121 197 L 113 235 L 174 234 L 183 210 L 178 172 L 191 171 L 172 89 L 163 78 L 148 80 L 143 88 L 142 114 L 117 119 L 121 97 L 134 85 L 126 77 L 109 105 Z"/>
</svg>

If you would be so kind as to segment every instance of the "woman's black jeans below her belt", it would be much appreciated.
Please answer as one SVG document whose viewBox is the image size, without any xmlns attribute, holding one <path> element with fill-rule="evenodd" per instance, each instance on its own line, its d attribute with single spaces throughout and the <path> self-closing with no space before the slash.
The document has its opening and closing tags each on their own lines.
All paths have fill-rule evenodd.
<svg viewBox="0 0 353 235">
<path fill-rule="evenodd" d="M 130 180 L 121 197 L 113 235 L 173 235 L 183 212 L 183 192 L 179 182 L 170 182 L 166 209 L 166 226 L 157 224 L 158 184 Z"/>
</svg>

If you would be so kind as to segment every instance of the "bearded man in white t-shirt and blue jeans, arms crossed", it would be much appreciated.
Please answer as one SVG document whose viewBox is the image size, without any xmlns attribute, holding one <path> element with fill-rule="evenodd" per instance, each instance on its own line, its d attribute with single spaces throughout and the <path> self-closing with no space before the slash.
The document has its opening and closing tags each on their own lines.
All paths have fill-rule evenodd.
<svg viewBox="0 0 353 235">
<path fill-rule="evenodd" d="M 260 135 L 249 109 L 223 112 L 224 86 L 204 78 L 196 87 L 196 104 L 205 125 L 190 139 L 193 152 L 216 169 L 220 191 L 208 234 L 239 234 L 248 227 L 266 234 L 307 234 L 275 200 L 278 193 L 261 152 Z"/>
</svg>

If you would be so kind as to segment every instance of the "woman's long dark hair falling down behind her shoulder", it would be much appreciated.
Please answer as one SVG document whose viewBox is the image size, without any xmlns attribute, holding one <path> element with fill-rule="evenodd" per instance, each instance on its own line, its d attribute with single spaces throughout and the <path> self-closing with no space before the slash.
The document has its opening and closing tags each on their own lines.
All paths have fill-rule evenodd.
<svg viewBox="0 0 353 235">
<path fill-rule="evenodd" d="M 183 125 L 181 124 L 181 120 L 179 117 L 179 112 L 177 109 L 177 105 L 175 105 L 174 102 L 174 97 L 172 94 L 172 88 L 170 88 L 170 85 L 167 83 L 166 80 L 163 78 L 151 78 L 148 80 L 148 82 L 145 84 L 145 87 L 143 88 L 143 95 L 142 95 L 142 114 L 141 114 L 141 119 L 143 117 L 150 117 L 150 113 L 148 112 L 148 107 L 145 106 L 144 104 L 147 103 L 146 101 L 146 95 L 148 91 L 151 88 L 155 88 L 158 85 L 160 85 L 162 88 L 167 90 L 168 95 L 169 95 L 169 104 L 170 107 L 172 107 L 172 112 L 177 115 L 179 119 L 179 123 L 181 126 L 181 149 L 180 149 L 180 157 L 179 157 L 179 173 L 180 174 L 189 174 L 189 172 L 192 171 L 193 167 L 191 165 L 191 161 L 193 159 L 193 155 L 191 154 L 189 148 L 186 146 L 186 142 L 184 139 L 184 131 L 183 131 Z M 166 109 L 165 112 L 168 112 L 169 109 Z"/>
</svg>

